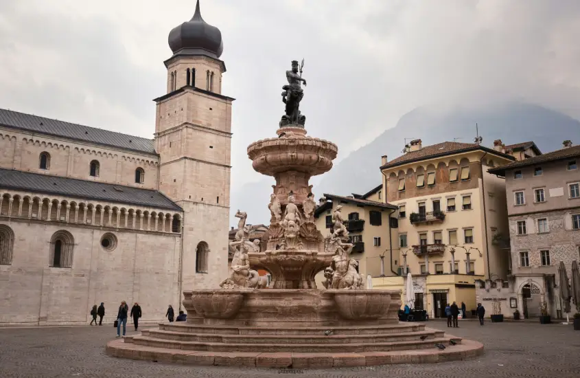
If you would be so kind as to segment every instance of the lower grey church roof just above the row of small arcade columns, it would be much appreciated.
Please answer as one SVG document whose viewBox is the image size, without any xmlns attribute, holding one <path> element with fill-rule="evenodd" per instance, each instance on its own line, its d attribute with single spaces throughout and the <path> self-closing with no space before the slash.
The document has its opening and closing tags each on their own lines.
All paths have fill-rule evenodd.
<svg viewBox="0 0 580 378">
<path fill-rule="evenodd" d="M 176 203 L 156 190 L 71 179 L 70 177 L 40 175 L 20 170 L 0 168 L 0 188 L 182 211 Z"/>
</svg>

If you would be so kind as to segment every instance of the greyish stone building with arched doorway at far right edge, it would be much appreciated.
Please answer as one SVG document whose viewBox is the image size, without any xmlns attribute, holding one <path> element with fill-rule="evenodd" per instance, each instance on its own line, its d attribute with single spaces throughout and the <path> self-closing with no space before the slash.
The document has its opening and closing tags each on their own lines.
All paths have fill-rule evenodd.
<svg viewBox="0 0 580 378">
<path fill-rule="evenodd" d="M 520 313 L 540 315 L 546 302 L 561 317 L 558 265 L 571 275 L 580 260 L 580 146 L 564 148 L 489 170 L 505 177 L 510 267 Z"/>
</svg>

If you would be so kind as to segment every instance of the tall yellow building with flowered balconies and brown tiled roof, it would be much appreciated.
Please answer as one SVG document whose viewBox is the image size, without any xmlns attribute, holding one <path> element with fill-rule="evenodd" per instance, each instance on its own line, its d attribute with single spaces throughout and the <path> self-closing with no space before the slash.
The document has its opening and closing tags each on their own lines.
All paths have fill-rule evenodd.
<svg viewBox="0 0 580 378">
<path fill-rule="evenodd" d="M 439 318 L 454 301 L 476 308 L 474 280 L 507 278 L 509 251 L 494 238 L 509 234 L 505 183 L 487 173 L 513 162 L 501 148 L 413 140 L 401 157 L 382 157 L 382 197 L 399 209 L 393 269 L 402 276 L 373 278 L 373 288 L 404 290 L 410 271 L 415 308 Z"/>
</svg>

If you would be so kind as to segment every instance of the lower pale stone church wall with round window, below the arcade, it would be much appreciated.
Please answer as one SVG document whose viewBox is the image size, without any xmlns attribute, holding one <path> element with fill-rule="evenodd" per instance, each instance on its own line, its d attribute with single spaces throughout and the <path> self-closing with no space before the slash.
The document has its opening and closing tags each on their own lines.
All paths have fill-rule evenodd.
<svg viewBox="0 0 580 378">
<path fill-rule="evenodd" d="M 163 320 L 167 304 L 178 308 L 179 234 L 20 219 L 0 224 L 14 232 L 12 265 L 0 265 L 0 325 L 90 322 L 91 307 L 100 302 L 108 322 L 121 300 L 139 302 L 143 321 Z M 49 267 L 51 237 L 59 230 L 74 238 L 71 268 Z M 100 243 L 106 232 L 117 237 L 111 252 Z"/>
</svg>

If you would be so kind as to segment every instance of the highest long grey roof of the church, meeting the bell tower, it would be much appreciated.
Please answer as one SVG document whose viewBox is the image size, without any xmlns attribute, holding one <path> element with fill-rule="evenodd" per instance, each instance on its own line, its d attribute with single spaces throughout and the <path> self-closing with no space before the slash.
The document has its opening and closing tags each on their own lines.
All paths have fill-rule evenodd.
<svg viewBox="0 0 580 378">
<path fill-rule="evenodd" d="M 153 140 L 0 109 L 0 126 L 156 155 Z"/>
</svg>

